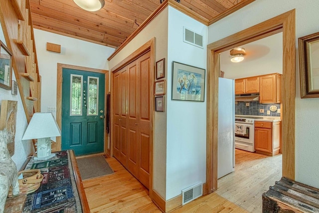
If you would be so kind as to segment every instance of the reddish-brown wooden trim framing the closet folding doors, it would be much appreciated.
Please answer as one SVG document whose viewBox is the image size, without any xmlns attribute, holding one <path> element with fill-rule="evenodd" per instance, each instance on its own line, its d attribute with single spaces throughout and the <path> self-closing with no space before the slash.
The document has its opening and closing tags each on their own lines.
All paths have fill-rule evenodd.
<svg viewBox="0 0 319 213">
<path fill-rule="evenodd" d="M 154 198 L 154 190 L 153 190 L 153 139 L 154 139 L 154 69 L 155 69 L 155 37 L 151 38 L 149 41 L 147 41 L 145 44 L 143 44 L 140 48 L 135 50 L 132 54 L 130 54 L 128 57 L 123 59 L 120 63 L 115 65 L 111 69 L 111 122 L 113 123 L 113 85 L 114 85 L 114 73 L 131 63 L 132 61 L 136 60 L 140 56 L 142 56 L 144 53 L 150 51 L 150 186 L 149 186 L 149 196 L 151 199 Z M 111 128 L 111 131 L 113 131 L 113 128 Z M 114 141 L 114 134 L 111 134 L 111 156 L 113 156 L 113 141 Z"/>
</svg>

